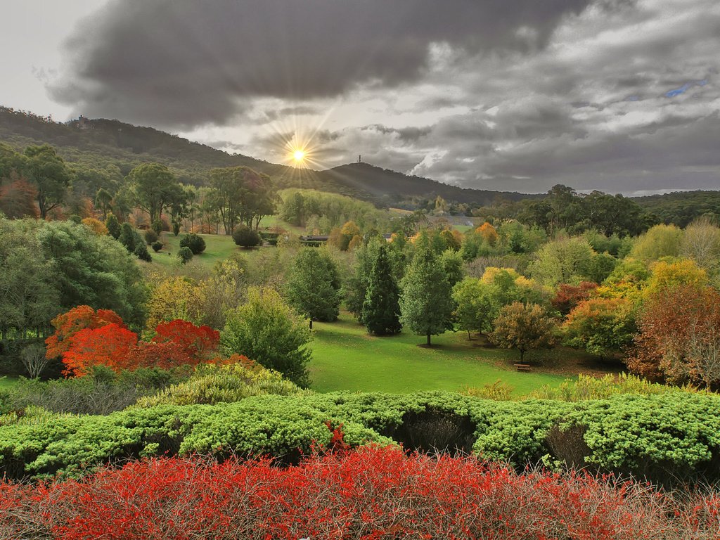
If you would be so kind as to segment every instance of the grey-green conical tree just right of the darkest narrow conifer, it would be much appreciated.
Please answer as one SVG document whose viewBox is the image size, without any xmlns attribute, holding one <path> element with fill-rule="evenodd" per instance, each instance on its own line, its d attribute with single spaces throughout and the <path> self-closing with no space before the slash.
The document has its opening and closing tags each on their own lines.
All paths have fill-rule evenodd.
<svg viewBox="0 0 720 540">
<path fill-rule="evenodd" d="M 420 247 L 400 283 L 400 323 L 420 336 L 452 330 L 454 309 L 451 286 L 438 257 L 430 248 Z"/>
</svg>

